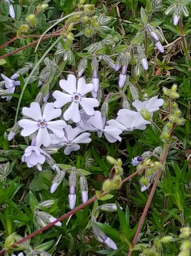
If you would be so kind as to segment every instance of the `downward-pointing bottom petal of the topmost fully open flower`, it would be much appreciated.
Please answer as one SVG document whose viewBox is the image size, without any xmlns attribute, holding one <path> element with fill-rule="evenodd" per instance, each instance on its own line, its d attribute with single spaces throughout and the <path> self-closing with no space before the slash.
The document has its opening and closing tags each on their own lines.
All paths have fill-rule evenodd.
<svg viewBox="0 0 191 256">
<path fill-rule="evenodd" d="M 74 123 L 78 123 L 81 120 L 78 101 L 72 102 L 72 104 L 64 112 L 63 117 L 66 121 L 72 119 Z"/>
</svg>

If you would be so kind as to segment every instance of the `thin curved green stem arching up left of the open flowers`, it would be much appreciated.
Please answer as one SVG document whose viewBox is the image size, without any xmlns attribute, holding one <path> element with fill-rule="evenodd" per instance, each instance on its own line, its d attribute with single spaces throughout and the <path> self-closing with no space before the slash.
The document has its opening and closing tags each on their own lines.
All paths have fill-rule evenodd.
<svg viewBox="0 0 191 256">
<path fill-rule="evenodd" d="M 43 61 L 43 59 L 46 57 L 46 55 L 49 53 L 49 51 L 60 41 L 61 37 L 58 37 L 56 39 L 56 41 L 48 48 L 48 50 L 46 50 L 46 52 L 44 53 L 44 55 L 39 59 L 39 61 L 36 63 L 35 67 L 33 68 L 33 70 L 30 72 L 30 75 L 28 76 L 28 78 L 26 79 L 26 82 L 24 83 L 24 86 L 22 88 L 21 94 L 20 94 L 20 98 L 18 100 L 18 105 L 17 105 L 17 109 L 16 109 L 16 116 L 15 116 L 15 120 L 14 123 L 16 124 L 17 119 L 18 119 L 18 112 L 20 109 L 20 104 L 22 101 L 22 97 L 24 94 L 24 91 L 26 89 L 26 86 L 28 85 L 28 82 L 30 81 L 30 78 L 32 77 L 32 75 L 34 74 L 34 72 L 36 71 L 36 69 L 38 68 L 38 66 L 40 65 L 40 63 Z"/>
</svg>

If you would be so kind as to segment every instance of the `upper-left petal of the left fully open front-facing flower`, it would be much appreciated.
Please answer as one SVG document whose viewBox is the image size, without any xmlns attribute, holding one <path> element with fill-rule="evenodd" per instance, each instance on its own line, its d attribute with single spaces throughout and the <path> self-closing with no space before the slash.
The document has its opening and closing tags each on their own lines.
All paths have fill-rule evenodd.
<svg viewBox="0 0 191 256">
<path fill-rule="evenodd" d="M 22 113 L 26 117 L 30 117 L 36 121 L 42 119 L 40 104 L 38 102 L 31 102 L 30 108 L 24 106 L 24 108 L 22 108 Z"/>
</svg>

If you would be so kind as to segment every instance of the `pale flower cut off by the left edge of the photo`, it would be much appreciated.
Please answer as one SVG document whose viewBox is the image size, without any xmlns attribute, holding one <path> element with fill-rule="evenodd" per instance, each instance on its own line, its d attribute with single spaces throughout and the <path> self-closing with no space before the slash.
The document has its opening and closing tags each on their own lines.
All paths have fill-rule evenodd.
<svg viewBox="0 0 191 256">
<path fill-rule="evenodd" d="M 3 80 L 5 81 L 5 87 L 7 88 L 5 91 L 7 93 L 14 93 L 16 86 L 20 85 L 20 81 L 15 81 L 14 79 L 18 78 L 15 76 L 11 76 L 11 78 L 8 78 L 4 74 L 1 74 Z M 14 79 L 13 79 L 14 78 Z M 12 96 L 1 96 L 1 98 L 6 98 L 6 101 L 11 100 Z"/>
</svg>

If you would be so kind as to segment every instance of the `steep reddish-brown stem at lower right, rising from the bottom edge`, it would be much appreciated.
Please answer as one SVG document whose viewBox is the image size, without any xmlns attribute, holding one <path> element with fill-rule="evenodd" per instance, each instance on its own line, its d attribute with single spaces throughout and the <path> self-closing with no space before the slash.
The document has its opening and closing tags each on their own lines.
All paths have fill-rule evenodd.
<svg viewBox="0 0 191 256">
<path fill-rule="evenodd" d="M 169 150 L 169 143 L 166 144 L 165 146 L 165 151 L 164 151 L 164 154 L 163 154 L 163 157 L 162 157 L 162 160 L 161 160 L 161 164 L 164 164 L 165 163 L 165 160 L 166 160 L 166 157 L 167 157 L 167 153 L 168 153 L 168 150 Z M 153 199 L 153 195 L 155 193 L 155 190 L 157 188 L 157 183 L 159 181 L 159 178 L 161 176 L 161 172 L 162 172 L 162 168 L 159 168 L 158 170 L 158 173 L 157 173 L 157 176 L 155 178 L 155 182 L 153 184 L 153 187 L 151 188 L 151 193 L 149 194 L 149 198 L 147 200 L 147 203 L 145 205 L 145 208 L 143 210 L 143 214 L 141 215 L 141 218 L 140 218 L 140 221 L 139 221 L 139 225 L 137 227 L 137 230 L 136 230 L 136 233 L 135 233 L 135 236 L 133 238 L 133 242 L 132 242 L 132 248 L 129 249 L 129 254 L 128 256 L 131 256 L 132 252 L 133 252 L 133 247 L 135 246 L 136 242 L 137 242 L 137 238 L 139 236 L 139 233 L 141 231 L 141 227 L 143 225 L 143 222 L 145 220 L 145 217 L 147 215 L 147 212 L 149 210 L 149 206 L 151 204 L 151 201 Z"/>
</svg>

